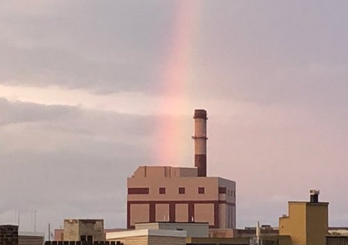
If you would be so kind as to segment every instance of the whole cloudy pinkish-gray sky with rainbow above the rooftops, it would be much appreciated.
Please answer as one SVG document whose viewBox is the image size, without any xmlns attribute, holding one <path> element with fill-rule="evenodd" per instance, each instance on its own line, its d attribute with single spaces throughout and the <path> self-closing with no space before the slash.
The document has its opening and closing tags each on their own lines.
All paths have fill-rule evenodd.
<svg viewBox="0 0 348 245">
<path fill-rule="evenodd" d="M 0 223 L 125 227 L 139 165 L 237 182 L 237 226 L 278 225 L 320 189 L 347 226 L 348 3 L 15 1 L 0 6 Z"/>
</svg>

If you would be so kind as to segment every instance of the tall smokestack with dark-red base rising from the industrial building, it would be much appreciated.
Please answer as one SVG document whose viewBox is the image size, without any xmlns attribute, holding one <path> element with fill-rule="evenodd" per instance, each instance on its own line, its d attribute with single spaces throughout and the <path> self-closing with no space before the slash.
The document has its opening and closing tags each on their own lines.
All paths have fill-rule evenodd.
<svg viewBox="0 0 348 245">
<path fill-rule="evenodd" d="M 196 109 L 193 115 L 195 120 L 195 166 L 198 168 L 198 177 L 207 176 L 207 111 Z"/>
</svg>

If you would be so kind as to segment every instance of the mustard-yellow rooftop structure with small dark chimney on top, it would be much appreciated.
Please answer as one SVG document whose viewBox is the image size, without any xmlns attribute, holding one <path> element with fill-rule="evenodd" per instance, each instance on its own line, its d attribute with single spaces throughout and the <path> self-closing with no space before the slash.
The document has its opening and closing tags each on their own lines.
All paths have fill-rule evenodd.
<svg viewBox="0 0 348 245">
<path fill-rule="evenodd" d="M 320 203 L 319 191 L 310 191 L 310 202 L 289 202 L 289 214 L 279 218 L 279 235 L 290 235 L 294 245 L 325 245 L 328 206 Z"/>
</svg>

